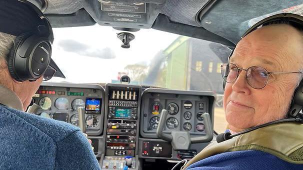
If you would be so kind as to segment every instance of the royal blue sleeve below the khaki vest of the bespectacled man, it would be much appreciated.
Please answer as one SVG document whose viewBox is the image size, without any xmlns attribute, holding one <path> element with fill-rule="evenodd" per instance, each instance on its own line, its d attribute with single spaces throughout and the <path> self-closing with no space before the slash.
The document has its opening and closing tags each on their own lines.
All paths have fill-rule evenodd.
<svg viewBox="0 0 303 170">
<path fill-rule="evenodd" d="M 189 165 L 187 170 L 222 169 L 303 169 L 303 164 L 286 162 L 258 150 L 242 150 L 216 154 Z"/>
</svg>

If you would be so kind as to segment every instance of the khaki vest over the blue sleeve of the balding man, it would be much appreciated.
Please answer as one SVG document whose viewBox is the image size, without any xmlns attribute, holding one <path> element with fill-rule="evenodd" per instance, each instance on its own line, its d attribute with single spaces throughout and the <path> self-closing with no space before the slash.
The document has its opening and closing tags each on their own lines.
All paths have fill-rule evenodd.
<svg viewBox="0 0 303 170">
<path fill-rule="evenodd" d="M 220 143 L 211 142 L 182 169 L 203 158 L 239 150 L 260 150 L 290 163 L 303 164 L 303 124 L 295 122 L 272 124 Z"/>
</svg>

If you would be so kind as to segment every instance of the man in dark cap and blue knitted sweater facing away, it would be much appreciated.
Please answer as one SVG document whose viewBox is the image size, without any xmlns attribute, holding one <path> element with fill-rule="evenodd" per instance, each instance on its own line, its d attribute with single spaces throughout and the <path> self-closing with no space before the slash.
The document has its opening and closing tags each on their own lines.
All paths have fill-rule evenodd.
<svg viewBox="0 0 303 170">
<path fill-rule="evenodd" d="M 42 79 L 64 77 L 52 36 L 33 4 L 0 0 L 0 169 L 100 169 L 79 128 L 24 112 Z"/>
</svg>

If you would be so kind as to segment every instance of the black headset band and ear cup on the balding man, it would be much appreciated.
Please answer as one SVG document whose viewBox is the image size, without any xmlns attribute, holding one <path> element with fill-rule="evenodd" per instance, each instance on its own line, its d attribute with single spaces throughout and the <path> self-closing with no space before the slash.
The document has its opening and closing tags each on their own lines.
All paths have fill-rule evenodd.
<svg viewBox="0 0 303 170">
<path fill-rule="evenodd" d="M 266 17 L 257 23 L 255 23 L 253 26 L 251 26 L 242 36 L 246 36 L 253 30 L 265 26 L 268 24 L 274 24 L 274 23 L 289 23 L 290 25 L 294 26 L 295 28 L 298 28 L 300 30 L 303 30 L 303 16 L 294 14 L 294 13 L 279 13 L 275 14 L 269 17 Z M 231 51 L 230 55 L 228 56 L 228 62 L 229 58 L 232 55 L 233 50 Z M 225 71 L 226 72 L 226 71 Z M 223 80 L 223 89 L 225 89 L 226 82 Z M 288 110 L 288 117 L 296 117 L 299 113 L 299 111 L 303 108 L 303 80 L 300 81 L 298 87 L 294 90 L 293 98 L 291 100 L 291 104 Z"/>
</svg>

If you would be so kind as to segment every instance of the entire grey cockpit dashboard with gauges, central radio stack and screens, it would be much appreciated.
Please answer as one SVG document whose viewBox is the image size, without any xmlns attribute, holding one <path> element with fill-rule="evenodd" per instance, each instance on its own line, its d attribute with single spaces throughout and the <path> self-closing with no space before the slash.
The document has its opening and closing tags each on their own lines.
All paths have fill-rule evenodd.
<svg viewBox="0 0 303 170">
<path fill-rule="evenodd" d="M 156 135 L 162 109 L 168 111 L 164 133 L 189 132 L 204 135 L 201 114 L 208 112 L 213 123 L 214 94 L 142 88 L 140 85 L 107 83 L 72 84 L 43 82 L 34 95 L 35 114 L 78 126 L 77 108 L 84 107 L 86 133 L 100 165 L 109 167 L 123 156 L 179 160 L 191 158 L 207 143 L 193 143 L 188 150 L 173 148 Z M 108 160 L 107 160 L 108 159 Z M 122 160 L 122 159 L 121 159 Z M 108 165 L 107 165 L 108 164 Z M 113 163 L 114 164 L 114 163 Z"/>
</svg>

